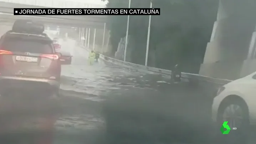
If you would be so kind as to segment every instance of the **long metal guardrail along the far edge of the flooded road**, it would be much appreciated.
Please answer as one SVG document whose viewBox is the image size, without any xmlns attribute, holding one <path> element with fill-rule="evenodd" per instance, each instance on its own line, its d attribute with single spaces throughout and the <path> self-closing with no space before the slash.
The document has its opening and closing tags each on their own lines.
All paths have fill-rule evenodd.
<svg viewBox="0 0 256 144">
<path fill-rule="evenodd" d="M 88 48 L 86 48 L 82 45 L 80 45 L 80 46 L 85 48 L 86 50 L 90 51 Z M 132 67 L 132 68 L 137 69 L 137 70 L 150 71 L 150 72 L 154 72 L 154 73 L 165 74 L 165 75 L 171 76 L 171 71 L 170 70 L 164 70 L 164 69 L 160 69 L 160 68 L 138 65 L 138 64 L 130 63 L 130 62 L 124 62 L 124 61 L 117 60 L 117 59 L 112 58 L 112 57 L 104 56 L 102 54 L 100 54 L 99 58 L 104 60 L 104 61 L 116 64 L 116 65 L 122 65 L 122 66 L 126 66 L 126 67 L 129 66 L 129 67 Z M 232 80 L 229 80 L 229 79 L 213 78 L 213 77 L 201 76 L 199 74 L 186 73 L 186 72 L 182 72 L 181 77 L 188 78 L 188 80 L 190 82 L 207 81 L 207 82 L 212 82 L 212 83 L 219 84 L 219 85 L 224 85 L 224 84 L 227 84 L 227 83 L 232 81 Z"/>
</svg>

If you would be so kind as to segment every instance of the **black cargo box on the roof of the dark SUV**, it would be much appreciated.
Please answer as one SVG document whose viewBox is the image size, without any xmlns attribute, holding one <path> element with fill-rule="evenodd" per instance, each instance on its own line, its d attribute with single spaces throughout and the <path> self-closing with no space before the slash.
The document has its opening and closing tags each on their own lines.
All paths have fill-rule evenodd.
<svg viewBox="0 0 256 144">
<path fill-rule="evenodd" d="M 12 26 L 13 32 L 42 34 L 45 31 L 45 26 L 40 22 L 32 20 L 16 20 Z"/>
</svg>

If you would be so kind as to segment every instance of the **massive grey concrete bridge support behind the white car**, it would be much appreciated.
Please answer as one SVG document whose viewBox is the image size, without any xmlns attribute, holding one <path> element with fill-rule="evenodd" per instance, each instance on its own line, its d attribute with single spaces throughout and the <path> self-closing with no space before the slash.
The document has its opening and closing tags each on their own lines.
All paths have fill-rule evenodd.
<svg viewBox="0 0 256 144">
<path fill-rule="evenodd" d="M 237 79 L 256 71 L 256 1 L 220 0 L 199 74 Z"/>
</svg>

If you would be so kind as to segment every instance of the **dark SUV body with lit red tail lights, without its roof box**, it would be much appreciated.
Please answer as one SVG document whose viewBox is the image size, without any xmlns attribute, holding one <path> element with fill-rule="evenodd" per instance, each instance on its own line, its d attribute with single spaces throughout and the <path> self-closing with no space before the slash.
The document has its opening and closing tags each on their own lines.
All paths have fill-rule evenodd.
<svg viewBox="0 0 256 144">
<path fill-rule="evenodd" d="M 60 53 L 46 34 L 8 31 L 0 39 L 0 94 L 35 91 L 58 96 Z"/>
</svg>

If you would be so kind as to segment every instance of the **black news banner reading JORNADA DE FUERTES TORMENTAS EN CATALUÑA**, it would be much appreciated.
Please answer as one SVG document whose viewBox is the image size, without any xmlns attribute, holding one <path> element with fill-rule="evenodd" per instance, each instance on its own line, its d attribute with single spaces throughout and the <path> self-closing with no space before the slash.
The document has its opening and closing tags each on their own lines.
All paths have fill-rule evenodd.
<svg viewBox="0 0 256 144">
<path fill-rule="evenodd" d="M 160 15 L 160 8 L 14 8 L 14 15 Z"/>
</svg>

